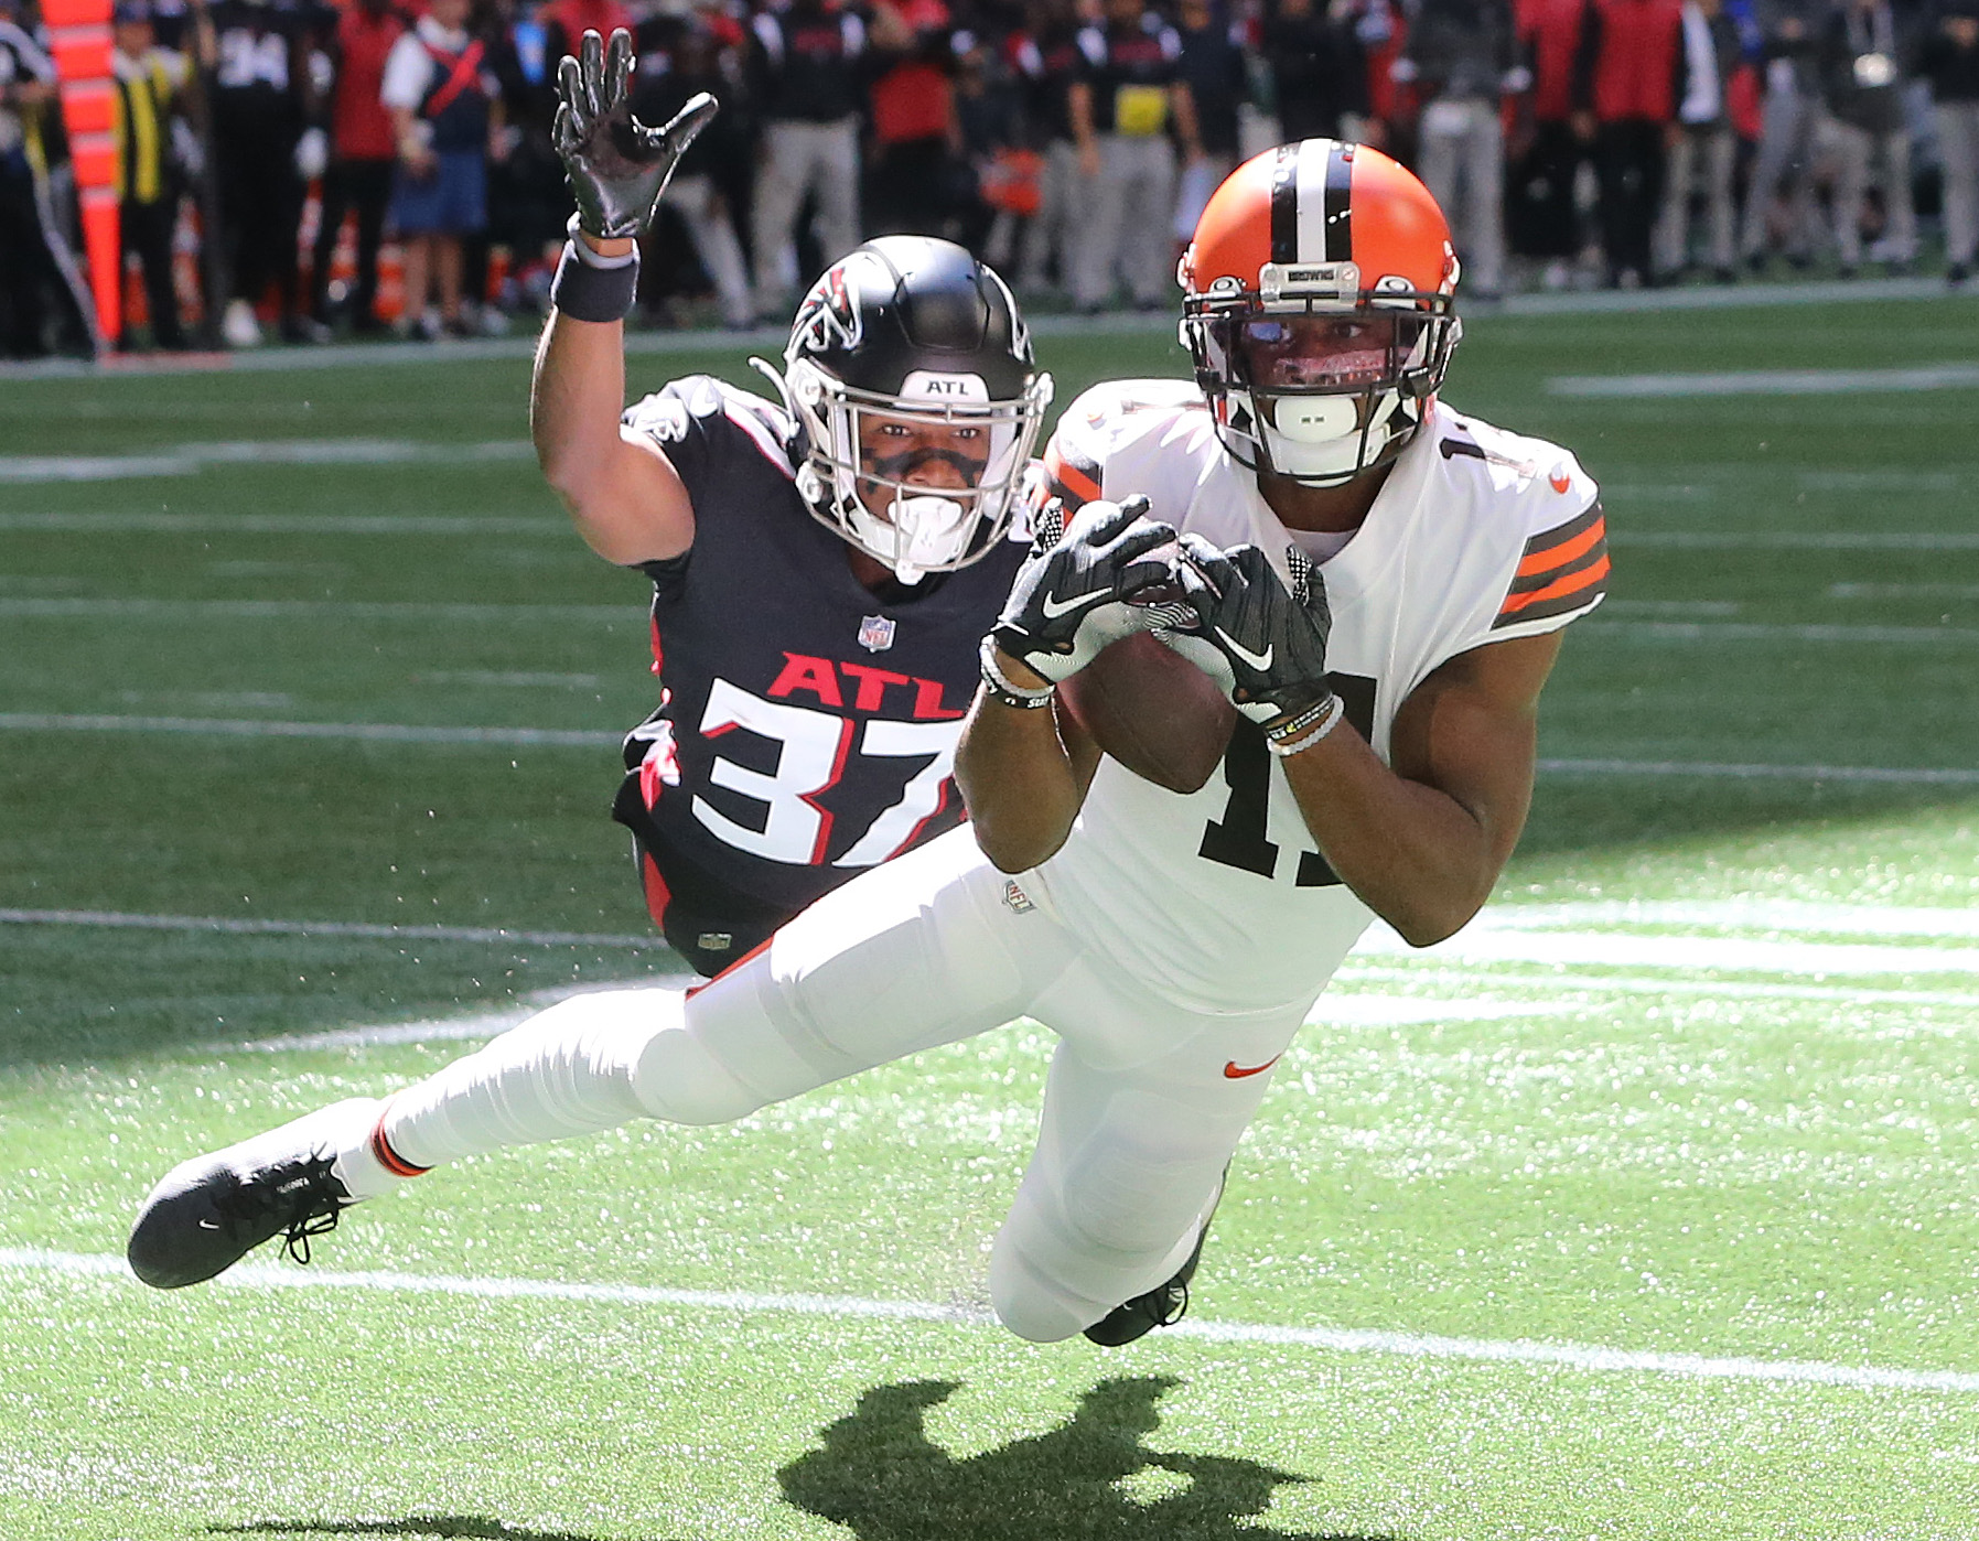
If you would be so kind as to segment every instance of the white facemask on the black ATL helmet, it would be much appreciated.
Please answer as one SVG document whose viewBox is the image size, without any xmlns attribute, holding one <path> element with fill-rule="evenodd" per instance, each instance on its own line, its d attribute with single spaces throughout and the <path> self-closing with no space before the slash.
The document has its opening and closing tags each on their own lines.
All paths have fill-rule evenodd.
<svg viewBox="0 0 1979 1541">
<path fill-rule="evenodd" d="M 803 356 L 786 356 L 778 386 L 803 429 L 805 506 L 902 584 L 966 568 L 1003 536 L 1051 404 L 1043 374 L 1003 402 L 990 400 L 978 374 L 936 370 L 912 370 L 898 394 L 883 394 L 847 386 Z M 889 425 L 968 429 L 974 445 L 887 455 Z M 930 459 L 948 461 L 964 485 L 916 481 Z"/>
</svg>

